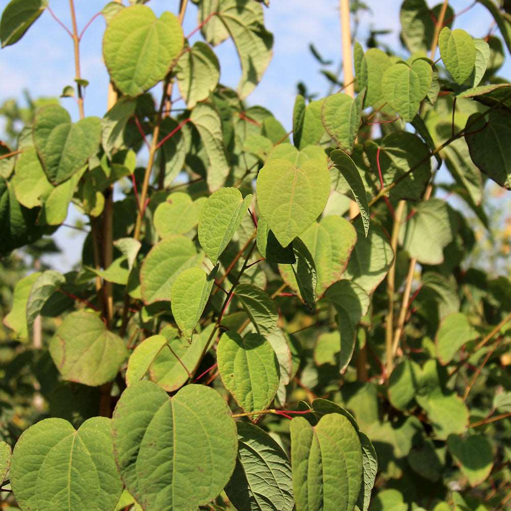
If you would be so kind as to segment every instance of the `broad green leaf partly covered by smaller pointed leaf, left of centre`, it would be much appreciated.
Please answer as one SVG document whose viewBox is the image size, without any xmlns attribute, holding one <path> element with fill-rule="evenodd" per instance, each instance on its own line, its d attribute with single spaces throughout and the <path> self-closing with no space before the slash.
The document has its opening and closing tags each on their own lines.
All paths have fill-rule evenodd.
<svg viewBox="0 0 511 511">
<path fill-rule="evenodd" d="M 172 299 L 172 285 L 179 273 L 199 266 L 202 256 L 184 236 L 160 241 L 149 251 L 140 270 L 142 298 L 147 305 Z"/>
</svg>

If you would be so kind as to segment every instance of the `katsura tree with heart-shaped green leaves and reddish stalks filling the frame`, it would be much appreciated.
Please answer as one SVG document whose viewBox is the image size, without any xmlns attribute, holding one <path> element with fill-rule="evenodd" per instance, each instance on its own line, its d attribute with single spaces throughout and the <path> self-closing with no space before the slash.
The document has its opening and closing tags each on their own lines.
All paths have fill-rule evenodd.
<svg viewBox="0 0 511 511">
<path fill-rule="evenodd" d="M 509 2 L 470 6 L 494 18 L 475 38 L 447 0 L 405 0 L 402 48 L 383 51 L 376 29 L 350 43 L 342 0 L 344 73 L 327 97 L 283 98 L 290 132 L 247 99 L 267 4 L 108 3 L 100 119 L 69 0 L 78 118 L 72 99 L 3 112 L 3 508 L 509 504 L 511 282 L 467 264 L 467 212 L 490 229 L 486 182 L 511 189 Z M 2 51 L 45 10 L 8 3 Z M 70 203 L 87 237 L 63 274 L 37 253 Z M 19 254 L 39 263 L 11 297 Z"/>
</svg>

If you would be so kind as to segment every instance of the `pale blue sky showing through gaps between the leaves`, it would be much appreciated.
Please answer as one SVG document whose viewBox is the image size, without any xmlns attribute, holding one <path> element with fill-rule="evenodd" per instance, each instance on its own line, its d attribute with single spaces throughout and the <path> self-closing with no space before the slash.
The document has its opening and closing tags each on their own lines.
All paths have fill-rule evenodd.
<svg viewBox="0 0 511 511">
<path fill-rule="evenodd" d="M 371 26 L 390 29 L 392 33 L 381 37 L 398 53 L 403 51 L 399 43 L 399 0 L 365 0 L 372 13 L 363 14 L 359 29 L 359 40 L 365 38 Z M 431 5 L 438 3 L 430 2 Z M 2 10 L 6 0 L 0 2 Z M 100 11 L 105 0 L 75 0 L 78 28 Z M 127 3 L 127 0 L 125 0 Z M 451 0 L 455 12 L 469 6 L 467 0 Z M 177 12 L 179 0 L 151 0 L 148 5 L 156 14 L 165 10 Z M 50 6 L 62 22 L 71 27 L 69 4 L 66 0 L 50 0 Z M 484 36 L 492 18 L 484 7 L 477 5 L 457 20 L 455 27 L 467 30 L 474 37 Z M 314 43 L 324 58 L 340 60 L 341 34 L 339 28 L 338 0 L 271 0 L 265 9 L 265 24 L 273 32 L 275 42 L 273 59 L 259 87 L 249 96 L 250 104 L 262 104 L 269 108 L 286 127 L 291 125 L 291 115 L 296 94 L 296 83 L 304 81 L 309 90 L 325 95 L 327 80 L 318 73 L 318 63 L 308 50 Z M 197 26 L 197 9 L 189 2 L 184 19 L 184 33 Z M 82 77 L 89 81 L 85 97 L 85 114 L 102 117 L 106 108 L 108 77 L 101 56 L 101 40 L 105 22 L 96 18 L 81 42 Z M 200 38 L 195 35 L 192 41 Z M 239 62 L 233 44 L 222 43 L 216 50 L 221 65 L 221 81 L 235 87 L 240 76 Z M 335 66 L 334 66 L 335 67 Z M 509 75 L 509 63 L 500 73 Z M 30 90 L 33 97 L 59 96 L 65 85 L 72 85 L 75 77 L 73 44 L 67 33 L 48 12 L 44 12 L 28 33 L 13 46 L 0 51 L 0 102 L 9 97 L 21 100 L 21 91 Z M 78 118 L 78 109 L 73 99 L 62 100 L 72 116 Z M 1 131 L 1 127 L 0 127 Z M 74 212 L 70 212 L 68 222 Z M 81 242 L 70 238 L 76 231 L 61 227 L 57 243 L 64 253 L 53 258 L 61 270 L 71 267 L 80 258 Z"/>
</svg>

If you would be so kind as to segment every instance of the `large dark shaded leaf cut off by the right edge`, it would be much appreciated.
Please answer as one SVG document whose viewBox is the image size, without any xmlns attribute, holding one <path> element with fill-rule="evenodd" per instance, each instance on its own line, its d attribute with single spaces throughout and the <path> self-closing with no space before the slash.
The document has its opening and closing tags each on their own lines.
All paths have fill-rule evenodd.
<svg viewBox="0 0 511 511">
<path fill-rule="evenodd" d="M 511 135 L 508 114 L 503 110 L 488 113 L 487 126 L 484 119 L 474 122 L 479 114 L 473 113 L 467 120 L 465 140 L 472 161 L 495 182 L 511 190 Z M 480 130 L 480 131 L 478 131 Z"/>
</svg>

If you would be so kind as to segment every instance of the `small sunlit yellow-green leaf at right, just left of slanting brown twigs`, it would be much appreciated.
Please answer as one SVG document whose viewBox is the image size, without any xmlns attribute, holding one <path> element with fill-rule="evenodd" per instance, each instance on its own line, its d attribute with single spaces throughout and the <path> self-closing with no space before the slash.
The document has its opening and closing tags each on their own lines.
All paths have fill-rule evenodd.
<svg viewBox="0 0 511 511">
<path fill-rule="evenodd" d="M 446 316 L 436 333 L 436 354 L 441 364 L 448 364 L 464 343 L 474 340 L 477 331 L 466 315 L 455 312 Z"/>
</svg>

